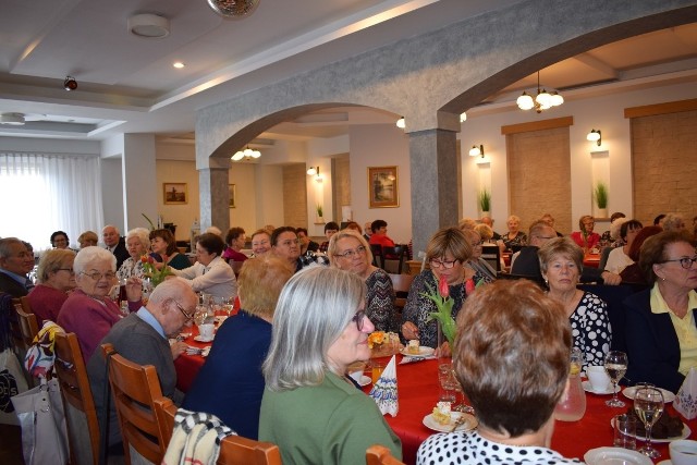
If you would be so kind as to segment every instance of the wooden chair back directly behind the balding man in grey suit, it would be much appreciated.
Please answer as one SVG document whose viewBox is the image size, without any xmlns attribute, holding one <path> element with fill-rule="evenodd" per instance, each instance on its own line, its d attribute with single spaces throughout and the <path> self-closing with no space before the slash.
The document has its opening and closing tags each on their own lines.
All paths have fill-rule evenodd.
<svg viewBox="0 0 697 465">
<path fill-rule="evenodd" d="M 109 384 L 121 425 L 126 463 L 131 463 L 129 445 L 132 445 L 146 460 L 159 464 L 167 448 L 155 415 L 154 401 L 162 397 L 157 371 L 152 365 L 142 366 L 125 359 L 111 344 L 102 344 L 101 348 L 108 358 Z"/>
</svg>

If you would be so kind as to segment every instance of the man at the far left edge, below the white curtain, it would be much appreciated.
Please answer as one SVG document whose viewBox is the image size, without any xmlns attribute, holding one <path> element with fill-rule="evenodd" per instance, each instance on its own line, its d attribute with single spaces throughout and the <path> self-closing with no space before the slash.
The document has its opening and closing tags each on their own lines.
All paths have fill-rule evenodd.
<svg viewBox="0 0 697 465">
<path fill-rule="evenodd" d="M 13 297 L 26 295 L 34 286 L 26 277 L 34 269 L 34 254 L 16 237 L 0 238 L 0 291 Z"/>
</svg>

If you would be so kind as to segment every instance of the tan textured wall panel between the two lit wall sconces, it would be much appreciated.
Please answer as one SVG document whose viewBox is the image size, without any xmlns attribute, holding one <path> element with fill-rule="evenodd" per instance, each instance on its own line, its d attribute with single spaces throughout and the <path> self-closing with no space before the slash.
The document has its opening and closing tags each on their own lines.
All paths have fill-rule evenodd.
<svg viewBox="0 0 697 465">
<path fill-rule="evenodd" d="M 571 218 L 568 127 L 506 136 L 511 213 L 521 217 L 521 230 L 551 213 L 558 224 Z M 504 224 L 499 230 L 505 231 Z M 568 232 L 568 231 L 560 231 Z"/>
</svg>

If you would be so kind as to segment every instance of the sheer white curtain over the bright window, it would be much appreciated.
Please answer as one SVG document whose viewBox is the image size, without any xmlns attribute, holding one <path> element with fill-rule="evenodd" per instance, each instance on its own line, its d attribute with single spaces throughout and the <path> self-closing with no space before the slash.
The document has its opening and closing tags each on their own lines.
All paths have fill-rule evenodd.
<svg viewBox="0 0 697 465">
<path fill-rule="evenodd" d="M 50 248 L 53 231 L 71 247 L 103 223 L 99 157 L 0 151 L 0 236 Z"/>
</svg>

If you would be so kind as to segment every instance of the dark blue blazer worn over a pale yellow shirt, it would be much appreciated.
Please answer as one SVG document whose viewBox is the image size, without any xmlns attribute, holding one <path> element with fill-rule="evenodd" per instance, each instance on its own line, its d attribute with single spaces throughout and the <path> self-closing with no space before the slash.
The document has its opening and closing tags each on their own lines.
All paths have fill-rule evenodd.
<svg viewBox="0 0 697 465">
<path fill-rule="evenodd" d="M 680 343 L 669 314 L 652 314 L 651 290 L 647 289 L 624 301 L 627 357 L 627 380 L 631 384 L 650 382 L 674 393 L 685 377 L 677 371 Z M 693 308 L 693 318 L 697 309 Z"/>
</svg>

